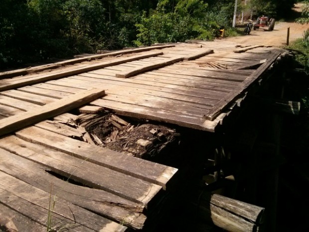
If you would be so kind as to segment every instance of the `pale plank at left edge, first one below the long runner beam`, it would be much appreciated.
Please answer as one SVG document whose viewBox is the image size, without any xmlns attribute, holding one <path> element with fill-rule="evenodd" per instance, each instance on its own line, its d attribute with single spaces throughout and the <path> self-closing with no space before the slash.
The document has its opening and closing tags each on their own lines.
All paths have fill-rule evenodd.
<svg viewBox="0 0 309 232">
<path fill-rule="evenodd" d="M 30 103 L 34 103 L 34 104 L 41 105 L 41 106 L 51 103 L 56 100 L 55 98 L 36 95 L 36 94 L 27 93 L 23 91 L 18 91 L 15 89 L 0 92 L 0 95 L 15 98 L 15 99 L 30 102 Z"/>
</svg>

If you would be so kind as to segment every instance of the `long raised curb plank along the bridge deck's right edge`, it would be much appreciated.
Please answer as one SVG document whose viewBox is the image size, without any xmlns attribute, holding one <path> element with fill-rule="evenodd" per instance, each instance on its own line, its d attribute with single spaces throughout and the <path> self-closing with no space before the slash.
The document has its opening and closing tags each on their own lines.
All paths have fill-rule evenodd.
<svg viewBox="0 0 309 232">
<path fill-rule="evenodd" d="M 244 92 L 255 80 L 257 80 L 260 75 L 268 69 L 273 62 L 280 56 L 280 52 L 275 52 L 272 56 L 270 56 L 267 62 L 263 63 L 255 72 L 253 72 L 241 85 L 235 90 L 231 91 L 227 94 L 223 99 L 221 99 L 218 104 L 216 104 L 213 109 L 208 112 L 206 115 L 206 119 L 214 120 L 216 116 L 220 114 L 220 112 L 233 100 L 235 100 L 241 93 Z"/>
</svg>

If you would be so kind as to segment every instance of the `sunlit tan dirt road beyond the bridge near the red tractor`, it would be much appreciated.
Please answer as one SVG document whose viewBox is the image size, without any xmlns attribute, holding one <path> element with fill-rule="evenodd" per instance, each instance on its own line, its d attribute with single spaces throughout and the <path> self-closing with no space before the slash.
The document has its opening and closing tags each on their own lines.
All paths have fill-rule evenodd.
<svg viewBox="0 0 309 232">
<path fill-rule="evenodd" d="M 302 11 L 302 3 L 296 4 L 295 11 Z M 303 33 L 309 24 L 298 24 L 295 22 L 276 22 L 273 31 L 268 31 L 268 27 L 262 27 L 257 30 L 253 30 L 250 35 L 238 36 L 238 37 L 228 37 L 225 40 L 234 41 L 240 44 L 261 44 L 261 45 L 273 45 L 282 47 L 287 43 L 287 31 L 290 27 L 290 42 L 303 37 Z"/>
</svg>

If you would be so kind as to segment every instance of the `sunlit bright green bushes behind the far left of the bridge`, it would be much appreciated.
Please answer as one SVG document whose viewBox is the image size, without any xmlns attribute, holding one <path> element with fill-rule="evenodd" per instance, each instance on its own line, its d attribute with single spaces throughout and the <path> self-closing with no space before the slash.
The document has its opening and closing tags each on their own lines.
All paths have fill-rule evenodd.
<svg viewBox="0 0 309 232">
<path fill-rule="evenodd" d="M 157 8 L 149 16 L 144 12 L 136 24 L 139 33 L 135 44 L 214 39 L 219 29 L 214 16 L 201 0 L 159 0 Z"/>
</svg>

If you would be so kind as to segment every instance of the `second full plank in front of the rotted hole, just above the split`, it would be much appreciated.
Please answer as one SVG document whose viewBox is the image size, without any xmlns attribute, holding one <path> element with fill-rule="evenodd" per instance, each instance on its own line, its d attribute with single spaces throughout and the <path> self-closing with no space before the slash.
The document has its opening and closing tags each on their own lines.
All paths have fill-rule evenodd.
<svg viewBox="0 0 309 232">
<path fill-rule="evenodd" d="M 51 141 L 54 142 L 49 140 L 49 143 L 52 143 Z M 81 143 L 88 145 L 84 142 Z M 87 159 L 88 157 L 79 159 L 60 151 L 26 142 L 15 136 L 1 139 L 0 147 L 42 164 L 58 175 L 63 176 L 66 180 L 74 180 L 91 188 L 104 190 L 130 201 L 143 204 L 146 208 L 149 207 L 154 196 L 161 190 L 160 186 L 89 162 L 91 154 L 89 159 Z M 96 150 L 100 149 L 98 146 L 94 147 Z"/>
</svg>

